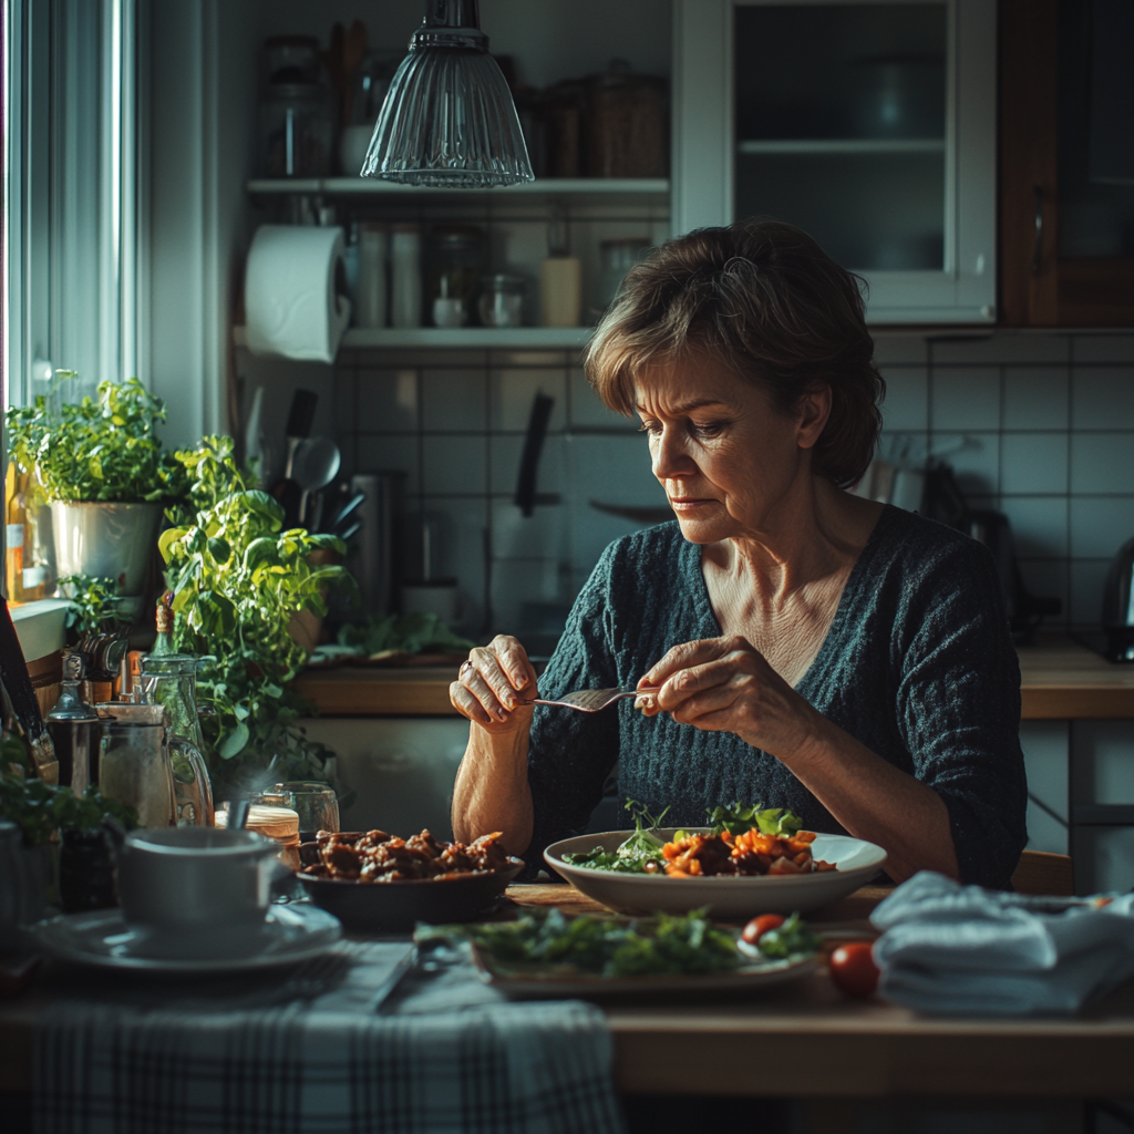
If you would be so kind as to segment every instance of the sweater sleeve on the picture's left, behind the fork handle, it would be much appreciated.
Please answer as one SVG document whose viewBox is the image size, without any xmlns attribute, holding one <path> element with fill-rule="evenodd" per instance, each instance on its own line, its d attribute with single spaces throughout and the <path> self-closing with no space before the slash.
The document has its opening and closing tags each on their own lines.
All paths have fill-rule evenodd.
<svg viewBox="0 0 1134 1134">
<path fill-rule="evenodd" d="M 613 550 L 608 548 L 575 600 L 564 635 L 540 677 L 540 696 L 618 684 L 610 609 L 612 562 Z M 534 810 L 532 841 L 524 855 L 530 872 L 542 865 L 548 845 L 586 827 L 618 760 L 618 713 L 612 710 L 586 713 L 536 706 L 527 754 Z"/>
</svg>

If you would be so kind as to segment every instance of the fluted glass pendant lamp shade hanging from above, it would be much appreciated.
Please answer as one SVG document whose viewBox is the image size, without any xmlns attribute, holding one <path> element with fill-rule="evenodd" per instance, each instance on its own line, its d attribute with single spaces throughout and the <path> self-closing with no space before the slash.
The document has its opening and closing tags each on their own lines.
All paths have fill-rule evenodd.
<svg viewBox="0 0 1134 1134">
<path fill-rule="evenodd" d="M 363 177 L 485 188 L 534 181 L 476 0 L 428 0 L 370 139 Z"/>
</svg>

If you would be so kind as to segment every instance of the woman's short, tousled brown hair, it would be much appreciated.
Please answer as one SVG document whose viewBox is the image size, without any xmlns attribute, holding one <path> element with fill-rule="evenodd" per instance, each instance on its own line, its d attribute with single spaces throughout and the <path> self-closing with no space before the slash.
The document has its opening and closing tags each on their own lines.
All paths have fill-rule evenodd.
<svg viewBox="0 0 1134 1134">
<path fill-rule="evenodd" d="M 794 225 L 696 229 L 631 269 L 586 349 L 586 374 L 627 415 L 646 367 L 688 357 L 709 356 L 758 382 L 784 414 L 828 386 L 831 413 L 812 468 L 849 488 L 873 456 L 886 393 L 864 288 Z"/>
</svg>

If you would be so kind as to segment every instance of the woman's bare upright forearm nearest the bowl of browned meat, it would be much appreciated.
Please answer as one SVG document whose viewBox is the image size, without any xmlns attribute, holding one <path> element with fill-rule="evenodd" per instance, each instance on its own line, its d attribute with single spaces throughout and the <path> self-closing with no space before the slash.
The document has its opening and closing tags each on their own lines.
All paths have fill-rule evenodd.
<svg viewBox="0 0 1134 1134">
<path fill-rule="evenodd" d="M 468 726 L 468 747 L 452 788 L 452 832 L 464 843 L 502 831 L 514 855 L 532 841 L 532 790 L 527 784 L 527 729 L 493 736 Z"/>
</svg>

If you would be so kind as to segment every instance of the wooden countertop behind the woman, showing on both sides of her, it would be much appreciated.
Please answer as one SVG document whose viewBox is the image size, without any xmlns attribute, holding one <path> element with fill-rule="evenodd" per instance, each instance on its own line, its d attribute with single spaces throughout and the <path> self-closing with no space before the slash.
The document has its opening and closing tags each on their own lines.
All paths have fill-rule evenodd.
<svg viewBox="0 0 1134 1134">
<path fill-rule="evenodd" d="M 1134 719 L 1134 666 L 1115 666 L 1064 636 L 1019 650 L 1024 720 Z M 456 668 L 311 670 L 295 683 L 327 717 L 456 716 Z"/>
</svg>

